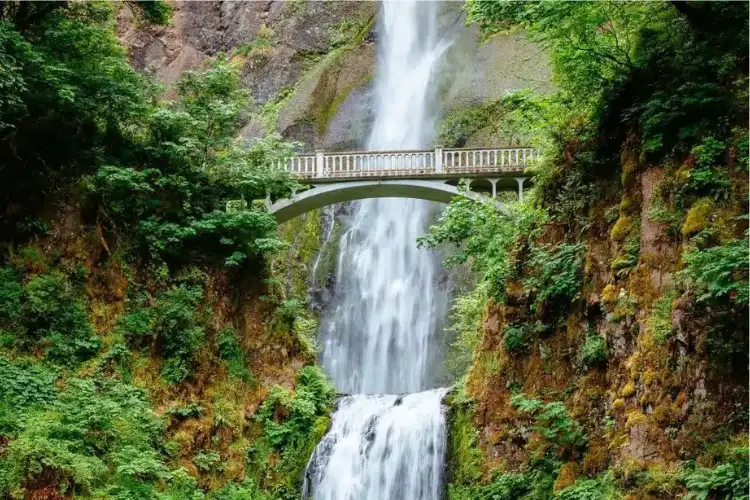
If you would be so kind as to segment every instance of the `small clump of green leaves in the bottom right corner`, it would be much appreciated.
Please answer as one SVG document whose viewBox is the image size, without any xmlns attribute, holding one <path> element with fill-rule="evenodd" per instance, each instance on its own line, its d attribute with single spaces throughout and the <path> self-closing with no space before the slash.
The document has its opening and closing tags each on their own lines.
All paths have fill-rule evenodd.
<svg viewBox="0 0 750 500">
<path fill-rule="evenodd" d="M 709 499 L 747 499 L 748 468 L 747 446 L 734 450 L 732 460 L 714 468 L 698 468 L 685 474 L 685 485 L 688 489 L 686 498 L 695 500 Z"/>
</svg>

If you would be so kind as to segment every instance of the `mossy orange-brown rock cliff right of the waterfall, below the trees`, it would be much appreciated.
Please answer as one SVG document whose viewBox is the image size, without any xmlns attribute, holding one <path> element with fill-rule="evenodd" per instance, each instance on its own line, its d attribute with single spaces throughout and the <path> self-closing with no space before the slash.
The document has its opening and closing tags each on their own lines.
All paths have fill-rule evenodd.
<svg viewBox="0 0 750 500">
<path fill-rule="evenodd" d="M 664 216 L 675 210 L 694 157 L 652 165 L 626 142 L 621 176 L 595 184 L 588 196 L 596 201 L 575 214 L 577 223 L 546 224 L 533 241 L 521 240 L 518 274 L 505 301 L 487 306 L 465 387 L 452 400 L 451 498 L 472 497 L 455 485 L 498 475 L 525 477 L 538 491 L 575 484 L 633 499 L 679 498 L 687 463 L 742 467 L 735 450 L 747 433 L 746 308 L 739 295 L 727 301 L 738 306 L 706 302 L 685 285 L 684 270 L 700 231 L 743 241 L 747 204 L 739 193 L 748 184 L 733 159 L 738 144 L 723 158 L 733 194 L 711 202 L 710 215 L 698 200 L 685 219 Z M 560 159 L 561 182 L 573 156 Z M 546 189 L 553 199 L 576 196 L 563 184 Z M 534 302 L 529 283 L 540 264 L 529 246 L 552 245 L 558 254 L 579 230 L 583 253 L 565 268 L 580 266 L 580 294 Z M 565 268 L 552 280 L 564 282 Z M 549 476 L 519 475 L 545 470 L 550 458 L 559 468 L 548 465 Z"/>
</svg>

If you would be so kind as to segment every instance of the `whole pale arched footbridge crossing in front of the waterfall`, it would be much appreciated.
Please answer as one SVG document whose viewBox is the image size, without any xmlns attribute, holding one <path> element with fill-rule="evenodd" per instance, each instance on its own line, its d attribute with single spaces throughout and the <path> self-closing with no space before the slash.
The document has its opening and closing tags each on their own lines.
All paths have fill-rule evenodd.
<svg viewBox="0 0 750 500">
<path fill-rule="evenodd" d="M 308 210 L 364 198 L 418 198 L 448 203 L 461 194 L 460 179 L 494 199 L 501 190 L 518 190 L 523 198 L 526 166 L 536 157 L 532 148 L 352 151 L 294 156 L 280 165 L 311 189 L 271 203 L 268 210 L 286 222 Z"/>
</svg>

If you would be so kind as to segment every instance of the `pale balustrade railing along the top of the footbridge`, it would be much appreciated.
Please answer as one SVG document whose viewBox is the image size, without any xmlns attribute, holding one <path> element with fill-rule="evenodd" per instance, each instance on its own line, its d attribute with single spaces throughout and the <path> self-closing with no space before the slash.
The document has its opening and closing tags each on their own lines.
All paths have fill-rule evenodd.
<svg viewBox="0 0 750 500">
<path fill-rule="evenodd" d="M 421 177 L 474 173 L 517 173 L 536 157 L 532 148 L 443 148 L 402 151 L 316 151 L 282 162 L 302 179 Z"/>
</svg>

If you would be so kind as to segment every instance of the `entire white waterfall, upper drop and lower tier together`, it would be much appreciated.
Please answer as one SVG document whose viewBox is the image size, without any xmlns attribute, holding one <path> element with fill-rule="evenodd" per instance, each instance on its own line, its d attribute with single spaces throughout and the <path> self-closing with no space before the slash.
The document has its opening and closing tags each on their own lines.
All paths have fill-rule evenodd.
<svg viewBox="0 0 750 500">
<path fill-rule="evenodd" d="M 434 72 L 447 44 L 436 5 L 383 2 L 370 150 L 428 147 L 435 128 Z M 331 430 L 305 472 L 304 498 L 441 498 L 445 389 L 429 389 L 433 336 L 448 298 L 437 256 L 416 247 L 436 205 L 357 203 L 344 221 L 337 301 L 325 311 L 321 359 L 340 392 Z M 424 391 L 424 392 L 419 392 Z M 405 395 L 396 395 L 410 393 Z"/>
</svg>

